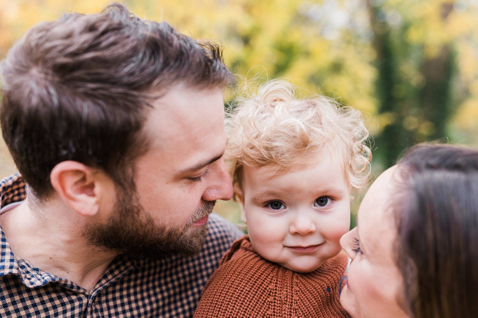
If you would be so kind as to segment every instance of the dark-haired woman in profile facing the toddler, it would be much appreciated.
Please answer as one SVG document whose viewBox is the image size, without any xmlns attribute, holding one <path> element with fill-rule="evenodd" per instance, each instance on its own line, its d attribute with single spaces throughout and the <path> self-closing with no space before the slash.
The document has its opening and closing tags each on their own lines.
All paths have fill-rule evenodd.
<svg viewBox="0 0 478 318">
<path fill-rule="evenodd" d="M 478 151 L 417 146 L 372 184 L 341 245 L 353 318 L 478 317 Z"/>
</svg>

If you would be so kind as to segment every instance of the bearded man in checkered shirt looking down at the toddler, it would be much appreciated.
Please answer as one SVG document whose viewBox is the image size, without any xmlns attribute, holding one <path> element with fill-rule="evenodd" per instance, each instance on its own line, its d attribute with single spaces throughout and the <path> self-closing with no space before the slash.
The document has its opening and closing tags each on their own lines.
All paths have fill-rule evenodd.
<svg viewBox="0 0 478 318">
<path fill-rule="evenodd" d="M 0 317 L 192 316 L 240 235 L 209 215 L 232 196 L 220 52 L 120 4 L 11 48 Z"/>
</svg>

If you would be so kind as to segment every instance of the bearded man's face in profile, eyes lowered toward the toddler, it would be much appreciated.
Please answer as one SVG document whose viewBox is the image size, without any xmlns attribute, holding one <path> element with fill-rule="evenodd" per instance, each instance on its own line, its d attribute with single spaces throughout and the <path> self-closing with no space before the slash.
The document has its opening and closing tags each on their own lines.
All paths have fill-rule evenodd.
<svg viewBox="0 0 478 318">
<path fill-rule="evenodd" d="M 144 125 L 150 147 L 134 167 L 136 191 L 117 187 L 108 221 L 86 235 L 95 245 L 143 257 L 194 254 L 214 202 L 232 196 L 222 158 L 222 91 L 176 85 L 153 106 Z"/>
</svg>

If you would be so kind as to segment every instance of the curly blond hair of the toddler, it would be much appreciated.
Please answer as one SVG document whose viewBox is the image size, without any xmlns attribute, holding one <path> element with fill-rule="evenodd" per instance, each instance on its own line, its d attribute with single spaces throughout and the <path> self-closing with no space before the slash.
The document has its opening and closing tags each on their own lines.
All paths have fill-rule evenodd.
<svg viewBox="0 0 478 318">
<path fill-rule="evenodd" d="M 368 182 L 369 133 L 358 110 L 320 95 L 294 98 L 293 85 L 273 80 L 237 100 L 226 120 L 226 159 L 233 183 L 242 167 L 275 165 L 278 173 L 309 165 L 324 155 L 340 159 L 351 188 Z"/>
</svg>

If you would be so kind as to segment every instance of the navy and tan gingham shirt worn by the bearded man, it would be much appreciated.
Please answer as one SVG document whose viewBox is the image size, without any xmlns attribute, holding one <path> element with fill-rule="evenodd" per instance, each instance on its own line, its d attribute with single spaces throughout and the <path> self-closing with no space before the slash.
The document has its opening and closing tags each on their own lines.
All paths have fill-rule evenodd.
<svg viewBox="0 0 478 318">
<path fill-rule="evenodd" d="M 18 174 L 3 179 L 0 207 L 24 200 L 24 185 Z M 90 293 L 13 255 L 0 227 L 0 317 L 192 317 L 220 257 L 242 235 L 217 214 L 207 227 L 195 257 L 118 256 Z"/>
</svg>

